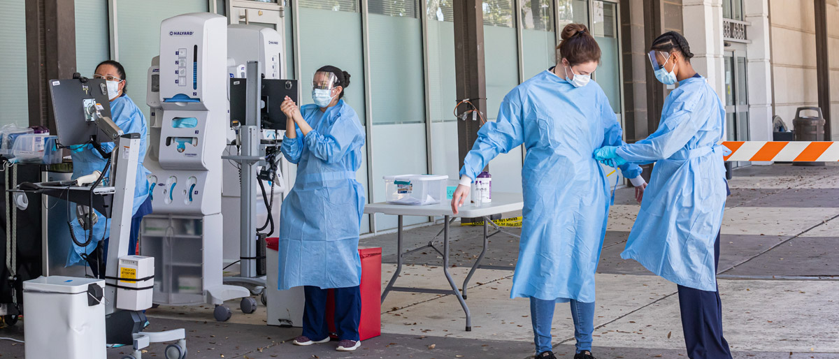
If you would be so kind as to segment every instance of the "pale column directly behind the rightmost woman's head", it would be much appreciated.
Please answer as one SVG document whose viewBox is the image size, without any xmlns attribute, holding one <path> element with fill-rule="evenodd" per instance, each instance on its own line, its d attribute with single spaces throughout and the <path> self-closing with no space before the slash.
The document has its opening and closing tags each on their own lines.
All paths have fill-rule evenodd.
<svg viewBox="0 0 839 359">
<path fill-rule="evenodd" d="M 725 95 L 725 50 L 722 43 L 722 0 L 682 2 L 685 38 L 694 58 L 693 68 L 708 79 L 720 98 Z"/>
</svg>

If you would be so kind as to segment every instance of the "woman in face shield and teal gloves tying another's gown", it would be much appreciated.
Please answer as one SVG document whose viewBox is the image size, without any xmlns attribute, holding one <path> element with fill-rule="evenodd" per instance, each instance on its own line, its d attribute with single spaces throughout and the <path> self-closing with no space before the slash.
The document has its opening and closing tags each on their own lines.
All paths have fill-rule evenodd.
<svg viewBox="0 0 839 359">
<path fill-rule="evenodd" d="M 633 258 L 678 284 L 682 329 L 691 359 L 731 358 L 722 336 L 717 287 L 720 226 L 728 186 L 722 157 L 725 108 L 717 92 L 690 65 L 690 45 L 670 32 L 649 51 L 655 77 L 677 81 L 664 101 L 655 133 L 637 143 L 604 147 L 597 159 L 655 162 L 624 259 Z"/>
</svg>

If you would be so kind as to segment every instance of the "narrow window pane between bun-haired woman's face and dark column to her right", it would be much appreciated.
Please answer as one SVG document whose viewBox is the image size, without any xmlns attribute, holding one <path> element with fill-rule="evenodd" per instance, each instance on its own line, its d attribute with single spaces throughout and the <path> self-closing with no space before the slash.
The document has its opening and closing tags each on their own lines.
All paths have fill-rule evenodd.
<svg viewBox="0 0 839 359">
<path fill-rule="evenodd" d="M 600 45 L 600 65 L 595 81 L 606 92 L 612 111 L 621 112 L 620 44 L 618 44 L 618 5 L 603 3 L 603 21 L 594 23 L 594 39 Z"/>
</svg>

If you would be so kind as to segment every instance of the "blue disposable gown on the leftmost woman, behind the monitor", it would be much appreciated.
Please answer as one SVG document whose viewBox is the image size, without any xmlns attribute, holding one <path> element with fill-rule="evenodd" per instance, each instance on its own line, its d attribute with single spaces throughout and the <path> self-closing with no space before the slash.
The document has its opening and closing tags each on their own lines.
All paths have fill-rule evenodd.
<svg viewBox="0 0 839 359">
<path fill-rule="evenodd" d="M 137 177 L 135 179 L 134 184 L 134 202 L 133 207 L 131 210 L 131 214 L 137 212 L 137 209 L 140 205 L 143 204 L 143 201 L 146 200 L 146 197 L 149 196 L 149 169 L 143 167 L 143 159 L 146 158 L 146 149 L 149 148 L 149 136 L 148 134 L 148 125 L 146 124 L 146 117 L 143 116 L 143 112 L 134 104 L 134 101 L 131 100 L 128 95 L 122 95 L 111 101 L 111 118 L 113 121 L 122 128 L 123 133 L 139 133 L 140 134 L 140 152 L 138 153 L 138 163 L 137 163 Z M 102 143 L 102 149 L 105 152 L 112 152 L 114 147 L 114 143 Z M 77 178 L 91 174 L 93 171 L 101 171 L 105 168 L 105 164 L 107 164 L 107 159 L 103 159 L 102 156 L 96 151 L 96 148 L 93 148 L 93 145 L 88 144 L 81 151 L 74 151 L 70 153 L 73 158 L 73 176 L 71 179 L 76 180 Z M 111 183 L 110 182 L 110 171 L 106 173 L 106 178 L 108 182 L 105 185 Z M 82 203 L 82 205 L 85 205 Z M 75 218 L 75 211 L 70 214 L 71 218 Z M 78 247 L 75 244 L 73 245 L 73 251 L 70 251 L 69 255 L 67 256 L 67 265 L 76 265 L 76 264 L 86 264 L 87 262 L 81 258 L 81 253 L 90 253 L 93 252 L 93 249 L 96 248 L 96 244 L 102 240 L 102 238 L 109 237 L 110 233 L 106 233 L 107 231 L 111 231 L 111 219 L 105 219 L 102 216 L 102 213 L 96 211 L 96 216 L 99 216 L 99 221 L 96 222 L 96 225 L 93 226 L 93 241 L 87 245 L 87 247 Z M 84 231 L 81 226 L 79 225 L 78 219 L 74 219 L 72 221 L 74 233 L 76 234 L 76 240 L 79 242 L 85 242 L 87 240 L 87 232 Z M 128 226 L 128 223 L 126 223 Z M 70 240 L 70 238 L 67 238 Z"/>
</svg>

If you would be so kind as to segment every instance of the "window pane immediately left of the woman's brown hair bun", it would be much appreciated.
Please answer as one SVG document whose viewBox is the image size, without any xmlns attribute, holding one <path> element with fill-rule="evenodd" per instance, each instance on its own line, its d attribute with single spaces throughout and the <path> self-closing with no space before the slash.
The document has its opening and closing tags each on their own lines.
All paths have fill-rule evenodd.
<svg viewBox="0 0 839 359">
<path fill-rule="evenodd" d="M 526 0 L 522 3 L 522 50 L 526 80 L 556 64 L 554 7 L 550 0 Z"/>
</svg>

